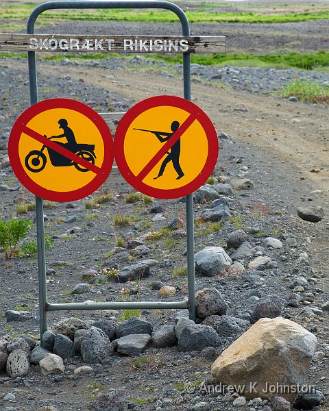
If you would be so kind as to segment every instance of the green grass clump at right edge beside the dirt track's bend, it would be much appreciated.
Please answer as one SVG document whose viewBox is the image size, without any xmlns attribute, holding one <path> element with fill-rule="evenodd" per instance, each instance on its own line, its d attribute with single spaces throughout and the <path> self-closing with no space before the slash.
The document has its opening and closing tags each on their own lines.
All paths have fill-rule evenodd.
<svg viewBox="0 0 329 411">
<path fill-rule="evenodd" d="M 282 90 L 284 99 L 291 96 L 295 96 L 303 102 L 329 104 L 329 87 L 321 86 L 317 82 L 295 80 L 295 82 L 287 84 Z"/>
</svg>

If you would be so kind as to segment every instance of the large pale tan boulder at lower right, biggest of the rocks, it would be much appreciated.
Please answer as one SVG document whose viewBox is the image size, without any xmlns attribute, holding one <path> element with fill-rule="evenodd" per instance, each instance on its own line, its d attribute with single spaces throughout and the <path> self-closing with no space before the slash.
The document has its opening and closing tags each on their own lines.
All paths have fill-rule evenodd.
<svg viewBox="0 0 329 411">
<path fill-rule="evenodd" d="M 282 317 L 260 319 L 221 353 L 211 373 L 249 399 L 279 395 L 293 403 L 316 347 L 315 335 L 301 325 Z"/>
</svg>

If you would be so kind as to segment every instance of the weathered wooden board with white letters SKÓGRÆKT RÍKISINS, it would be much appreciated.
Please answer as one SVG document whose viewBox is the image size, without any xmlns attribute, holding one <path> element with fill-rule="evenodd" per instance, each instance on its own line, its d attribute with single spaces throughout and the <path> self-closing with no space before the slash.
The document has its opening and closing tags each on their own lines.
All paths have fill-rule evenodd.
<svg viewBox="0 0 329 411">
<path fill-rule="evenodd" d="M 90 36 L 0 33 L 0 51 L 225 53 L 225 36 Z"/>
</svg>

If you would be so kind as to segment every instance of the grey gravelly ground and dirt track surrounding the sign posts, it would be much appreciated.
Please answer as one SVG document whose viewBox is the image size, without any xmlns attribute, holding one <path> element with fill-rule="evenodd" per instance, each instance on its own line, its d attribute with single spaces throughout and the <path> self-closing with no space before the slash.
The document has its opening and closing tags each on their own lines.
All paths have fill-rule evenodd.
<svg viewBox="0 0 329 411">
<path fill-rule="evenodd" d="M 318 23 L 313 30 L 324 27 L 322 22 Z M 312 27 L 312 24 L 307 27 Z M 126 32 L 124 27 L 123 30 Z M 247 45 L 247 38 L 243 41 Z M 273 47 L 276 40 L 270 44 Z M 234 273 L 211 278 L 197 275 L 197 290 L 215 286 L 228 302 L 230 313 L 241 319 L 248 319 L 256 308 L 257 301 L 250 300 L 250 296 L 259 295 L 261 301 L 268 295 L 278 295 L 282 316 L 302 324 L 318 338 L 317 351 L 320 354 L 313 360 L 305 384 L 315 384 L 324 393 L 324 403 L 315 410 L 326 411 L 329 395 L 328 313 L 317 310 L 329 300 L 328 223 L 326 217 L 319 223 L 303 221 L 297 217 L 295 209 L 305 204 L 319 205 L 328 215 L 328 109 L 292 103 L 270 95 L 286 84 L 289 77 L 311 79 L 308 76 L 315 76 L 312 79 L 322 84 L 328 84 L 328 77 L 326 73 L 290 70 L 200 66 L 192 69 L 193 101 L 206 110 L 218 132 L 226 133 L 219 140 L 220 155 L 214 175 L 219 180 L 228 181 L 247 177 L 255 186 L 254 190 L 234 190 L 226 196 L 233 218 L 219 231 L 201 219 L 209 204 L 195 204 L 195 251 L 208 245 L 225 246 L 226 238 L 234 230 L 242 228 L 252 245 L 271 258 L 271 264 L 258 270 L 258 277 L 254 277 L 252 282 L 247 281 L 248 269 L 240 276 Z M 38 60 L 39 98 L 71 97 L 87 103 L 98 112 L 107 112 L 109 108 L 125 111 L 136 101 L 151 95 L 181 95 L 180 71 L 180 66 L 169 67 L 140 58 L 112 58 L 101 62 Z M 34 201 L 34 196 L 21 188 L 16 180 L 6 153 L 10 129 L 17 116 L 29 105 L 26 60 L 1 58 L 0 73 L 0 185 L 14 189 L 0 192 L 0 216 L 10 219 L 16 216 L 19 203 Z M 175 297 L 169 297 L 169 300 L 186 298 L 186 277 L 173 275 L 175 269 L 186 264 L 184 229 L 182 232 L 175 230 L 172 236 L 157 241 L 144 240 L 149 232 L 159 231 L 177 216 L 184 221 L 184 203 L 154 200 L 164 208 L 161 213 L 164 220 L 156 221 L 154 214 L 149 212 L 151 205 L 143 200 L 126 202 L 133 191 L 127 185 L 108 183 L 104 190 L 113 194 L 113 200 L 95 210 L 86 208 L 88 199 L 73 204 L 56 203 L 45 209 L 46 231 L 54 237 L 54 247 L 47 251 L 49 301 L 159 299 L 154 282 L 176 288 Z M 123 227 L 114 225 L 113 216 L 119 211 L 134 221 Z M 24 216 L 34 221 L 33 211 Z M 69 222 L 72 216 L 76 216 L 74 223 Z M 29 236 L 35 238 L 35 225 Z M 280 238 L 284 247 L 280 250 L 265 248 L 263 240 L 266 236 Z M 117 249 L 117 238 L 127 241 L 132 237 L 143 239 L 144 251 Z M 295 238 L 295 246 L 288 246 L 288 238 Z M 232 250 L 227 251 L 232 253 Z M 155 259 L 158 264 L 151 269 L 151 275 L 141 281 L 137 295 L 134 294 L 137 284 L 130 284 L 132 292 L 126 294 L 122 284 L 113 280 L 91 284 L 85 294 L 71 294 L 77 284 L 84 282 L 83 276 L 90 269 L 101 274 L 103 269 L 121 269 L 145 258 Z M 246 268 L 249 261 L 250 258 L 243 260 Z M 1 312 L 15 308 L 29 312 L 23 322 L 7 323 L 5 318 L 0 318 L 1 338 L 12 339 L 28 334 L 37 339 L 36 259 L 15 257 L 9 261 L 0 260 L 0 273 Z M 288 305 L 292 293 L 289 285 L 300 275 L 307 279 L 308 289 L 300 292 L 302 299 L 293 308 Z M 49 314 L 49 325 L 66 316 L 91 322 L 100 318 L 119 321 L 120 314 L 117 311 L 56 312 Z M 161 325 L 173 324 L 176 313 L 174 310 L 143 310 L 141 314 L 154 329 L 158 329 Z M 222 338 L 217 354 L 234 338 Z M 232 397 L 221 394 L 214 397 L 204 393 L 202 382 L 209 377 L 213 362 L 206 353 L 182 353 L 173 347 L 149 349 L 141 358 L 144 360 L 136 362 L 136 358 L 116 353 L 108 364 L 93 364 L 93 373 L 83 377 L 74 375 L 74 369 L 84 364 L 80 356 L 65 360 L 66 370 L 62 375 L 44 377 L 38 366 L 32 366 L 31 372 L 22 378 L 10 379 L 2 373 L 0 408 L 6 411 L 95 409 L 97 394 L 120 388 L 127 396 L 129 408 L 134 410 L 148 411 L 160 407 L 173 411 L 271 409 L 268 408 L 271 404 L 266 401 L 236 408 L 232 406 Z M 8 394 L 13 397 L 9 395 L 5 399 Z"/>
</svg>

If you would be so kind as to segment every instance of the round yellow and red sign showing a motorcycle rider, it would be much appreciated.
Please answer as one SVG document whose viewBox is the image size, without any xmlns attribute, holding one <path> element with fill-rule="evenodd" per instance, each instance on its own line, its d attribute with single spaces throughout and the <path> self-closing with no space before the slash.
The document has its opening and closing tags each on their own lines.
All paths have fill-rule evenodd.
<svg viewBox="0 0 329 411">
<path fill-rule="evenodd" d="M 21 184 L 42 199 L 75 201 L 97 190 L 114 160 L 112 135 L 88 105 L 49 99 L 16 120 L 8 143 Z"/>
</svg>

